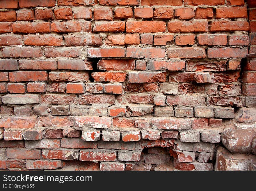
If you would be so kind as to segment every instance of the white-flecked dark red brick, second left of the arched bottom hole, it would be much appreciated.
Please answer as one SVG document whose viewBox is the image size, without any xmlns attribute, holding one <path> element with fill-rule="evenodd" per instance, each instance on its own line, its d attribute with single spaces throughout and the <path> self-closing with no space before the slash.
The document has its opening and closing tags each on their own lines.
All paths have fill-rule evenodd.
<svg viewBox="0 0 256 191">
<path fill-rule="evenodd" d="M 115 161 L 116 151 L 115 150 L 81 150 L 79 160 L 82 161 Z"/>
</svg>

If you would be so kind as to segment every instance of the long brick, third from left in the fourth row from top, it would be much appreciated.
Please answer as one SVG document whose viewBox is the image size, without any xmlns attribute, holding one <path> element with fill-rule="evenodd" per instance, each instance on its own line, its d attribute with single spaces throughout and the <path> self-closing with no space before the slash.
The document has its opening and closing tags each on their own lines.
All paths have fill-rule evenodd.
<svg viewBox="0 0 256 191">
<path fill-rule="evenodd" d="M 65 46 L 81 46 L 81 45 L 102 45 L 102 37 L 99 35 L 66 35 Z"/>
</svg>

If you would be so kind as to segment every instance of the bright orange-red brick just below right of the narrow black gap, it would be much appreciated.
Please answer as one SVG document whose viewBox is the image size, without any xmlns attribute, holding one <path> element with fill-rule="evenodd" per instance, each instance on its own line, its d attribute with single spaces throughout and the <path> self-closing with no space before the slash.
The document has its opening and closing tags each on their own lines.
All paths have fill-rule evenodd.
<svg viewBox="0 0 256 191">
<path fill-rule="evenodd" d="M 124 82 L 126 72 L 93 72 L 95 82 Z"/>
</svg>

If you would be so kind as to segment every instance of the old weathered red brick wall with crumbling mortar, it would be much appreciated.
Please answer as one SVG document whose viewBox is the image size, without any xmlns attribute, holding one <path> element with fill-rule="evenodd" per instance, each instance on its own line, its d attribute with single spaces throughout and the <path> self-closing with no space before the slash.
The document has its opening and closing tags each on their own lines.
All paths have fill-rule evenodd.
<svg viewBox="0 0 256 191">
<path fill-rule="evenodd" d="M 254 7 L 0 0 L 0 169 L 256 169 Z"/>
</svg>

